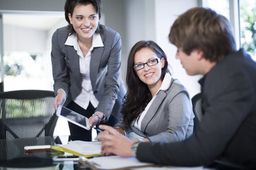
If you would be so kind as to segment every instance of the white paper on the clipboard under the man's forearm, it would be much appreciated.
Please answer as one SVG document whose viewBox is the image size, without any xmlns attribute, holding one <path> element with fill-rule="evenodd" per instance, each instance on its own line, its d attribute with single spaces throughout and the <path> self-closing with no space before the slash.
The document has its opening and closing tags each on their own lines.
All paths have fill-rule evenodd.
<svg viewBox="0 0 256 170">
<path fill-rule="evenodd" d="M 94 169 L 129 169 L 136 167 L 152 167 L 152 163 L 140 162 L 134 157 L 121 157 L 121 156 L 98 156 L 89 159 L 88 163 L 94 167 Z"/>
</svg>

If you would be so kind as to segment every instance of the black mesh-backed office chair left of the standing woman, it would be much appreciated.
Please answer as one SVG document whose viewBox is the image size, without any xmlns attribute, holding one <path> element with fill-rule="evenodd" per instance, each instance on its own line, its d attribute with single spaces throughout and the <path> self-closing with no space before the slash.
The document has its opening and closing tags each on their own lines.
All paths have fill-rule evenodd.
<svg viewBox="0 0 256 170">
<path fill-rule="evenodd" d="M 0 138 L 53 136 L 54 92 L 14 90 L 0 93 Z"/>
</svg>

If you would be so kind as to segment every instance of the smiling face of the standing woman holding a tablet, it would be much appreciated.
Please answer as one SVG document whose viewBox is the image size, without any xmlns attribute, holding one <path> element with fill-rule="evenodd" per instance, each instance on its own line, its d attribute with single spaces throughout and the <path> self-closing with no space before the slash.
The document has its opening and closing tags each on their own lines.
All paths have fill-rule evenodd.
<svg viewBox="0 0 256 170">
<path fill-rule="evenodd" d="M 72 16 L 70 13 L 68 16 L 79 40 L 88 40 L 92 38 L 98 27 L 99 21 L 94 5 L 76 5 Z"/>
</svg>

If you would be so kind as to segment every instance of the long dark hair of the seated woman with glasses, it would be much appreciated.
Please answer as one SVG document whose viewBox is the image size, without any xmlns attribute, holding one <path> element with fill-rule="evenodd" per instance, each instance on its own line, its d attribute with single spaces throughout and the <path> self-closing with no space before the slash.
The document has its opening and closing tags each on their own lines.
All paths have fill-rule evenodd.
<svg viewBox="0 0 256 170">
<path fill-rule="evenodd" d="M 162 68 L 162 74 L 160 77 L 161 80 L 164 79 L 164 75 L 167 72 L 169 73 L 169 70 L 167 69 L 167 56 L 156 42 L 153 42 L 152 40 L 141 40 L 131 48 L 127 60 L 127 94 L 124 97 L 124 104 L 122 104 L 121 110 L 123 114 L 123 123 L 125 123 L 125 125 L 129 125 L 131 121 L 136 119 L 152 98 L 147 84 L 139 79 L 136 71 L 134 70 L 134 56 L 142 48 L 149 48 L 156 53 L 158 58 L 164 58 L 164 67 Z"/>
</svg>

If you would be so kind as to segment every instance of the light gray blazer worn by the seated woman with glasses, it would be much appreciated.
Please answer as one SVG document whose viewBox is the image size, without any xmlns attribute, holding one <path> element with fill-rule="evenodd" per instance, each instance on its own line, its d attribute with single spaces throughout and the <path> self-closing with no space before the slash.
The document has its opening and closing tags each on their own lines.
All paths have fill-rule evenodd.
<svg viewBox="0 0 256 170">
<path fill-rule="evenodd" d="M 141 131 L 134 127 L 134 121 L 127 128 L 120 121 L 127 134 L 135 132 L 151 142 L 182 141 L 193 134 L 193 110 L 189 93 L 178 80 L 171 80 L 167 90 L 160 90 L 141 123 Z"/>
</svg>

